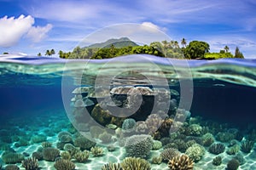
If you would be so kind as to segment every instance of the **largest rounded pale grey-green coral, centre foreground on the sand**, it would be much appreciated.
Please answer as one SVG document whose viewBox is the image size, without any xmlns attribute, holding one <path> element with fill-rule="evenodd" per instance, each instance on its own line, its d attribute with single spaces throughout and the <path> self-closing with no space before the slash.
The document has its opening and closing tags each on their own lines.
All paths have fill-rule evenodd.
<svg viewBox="0 0 256 170">
<path fill-rule="evenodd" d="M 125 150 L 127 156 L 145 158 L 150 154 L 153 139 L 150 135 L 132 135 L 125 142 Z"/>
</svg>

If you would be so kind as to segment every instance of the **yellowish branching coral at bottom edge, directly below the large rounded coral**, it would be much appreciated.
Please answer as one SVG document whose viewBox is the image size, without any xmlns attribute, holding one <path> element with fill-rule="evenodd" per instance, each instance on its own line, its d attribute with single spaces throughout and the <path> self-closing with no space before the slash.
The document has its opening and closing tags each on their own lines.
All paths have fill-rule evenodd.
<svg viewBox="0 0 256 170">
<path fill-rule="evenodd" d="M 124 170 L 150 170 L 150 164 L 148 161 L 142 158 L 136 157 L 126 157 L 124 161 L 121 162 L 121 167 Z"/>
</svg>

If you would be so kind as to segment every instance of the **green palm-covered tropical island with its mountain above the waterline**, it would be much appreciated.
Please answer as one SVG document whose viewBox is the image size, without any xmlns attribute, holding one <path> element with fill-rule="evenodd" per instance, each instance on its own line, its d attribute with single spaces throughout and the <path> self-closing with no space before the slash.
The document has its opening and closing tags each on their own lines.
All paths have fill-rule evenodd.
<svg viewBox="0 0 256 170">
<path fill-rule="evenodd" d="M 244 56 L 236 47 L 235 53 L 230 53 L 230 48 L 225 46 L 218 53 L 210 53 L 210 45 L 207 42 L 192 41 L 187 43 L 183 38 L 180 42 L 166 40 L 162 42 L 151 42 L 149 45 L 138 45 L 127 37 L 109 39 L 106 42 L 95 43 L 88 47 L 76 47 L 72 52 L 59 51 L 62 59 L 110 59 L 128 54 L 152 54 L 155 56 L 173 59 L 222 59 L 241 58 Z M 47 50 L 45 55 L 55 54 L 54 49 Z M 38 54 L 41 56 L 42 54 Z"/>
</svg>

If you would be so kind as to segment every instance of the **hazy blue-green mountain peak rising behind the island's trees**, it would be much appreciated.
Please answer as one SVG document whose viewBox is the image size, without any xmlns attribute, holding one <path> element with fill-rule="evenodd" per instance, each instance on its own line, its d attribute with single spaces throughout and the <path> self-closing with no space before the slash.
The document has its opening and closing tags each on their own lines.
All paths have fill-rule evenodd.
<svg viewBox="0 0 256 170">
<path fill-rule="evenodd" d="M 132 42 L 128 37 L 121 37 L 119 39 L 109 39 L 106 42 L 94 43 L 88 46 L 87 48 L 110 48 L 111 45 L 114 45 L 115 48 L 124 48 L 127 46 L 138 46 L 137 43 Z"/>
</svg>

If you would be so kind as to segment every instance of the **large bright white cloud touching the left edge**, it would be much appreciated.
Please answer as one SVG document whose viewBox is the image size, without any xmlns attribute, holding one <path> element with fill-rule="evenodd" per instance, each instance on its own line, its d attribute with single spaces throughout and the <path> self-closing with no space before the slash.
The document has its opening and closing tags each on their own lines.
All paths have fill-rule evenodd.
<svg viewBox="0 0 256 170">
<path fill-rule="evenodd" d="M 10 47 L 19 42 L 20 38 L 26 34 L 27 31 L 34 24 L 32 16 L 20 15 L 19 18 L 8 18 L 4 16 L 0 19 L 0 47 Z"/>
</svg>

